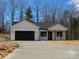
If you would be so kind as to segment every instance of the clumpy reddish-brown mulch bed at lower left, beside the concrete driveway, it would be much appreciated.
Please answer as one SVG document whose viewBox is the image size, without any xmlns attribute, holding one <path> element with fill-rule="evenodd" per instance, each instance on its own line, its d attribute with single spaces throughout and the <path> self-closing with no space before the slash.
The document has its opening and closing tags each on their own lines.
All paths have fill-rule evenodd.
<svg viewBox="0 0 79 59">
<path fill-rule="evenodd" d="M 9 53 L 13 52 L 19 44 L 12 42 L 0 42 L 0 59 L 3 59 Z"/>
</svg>

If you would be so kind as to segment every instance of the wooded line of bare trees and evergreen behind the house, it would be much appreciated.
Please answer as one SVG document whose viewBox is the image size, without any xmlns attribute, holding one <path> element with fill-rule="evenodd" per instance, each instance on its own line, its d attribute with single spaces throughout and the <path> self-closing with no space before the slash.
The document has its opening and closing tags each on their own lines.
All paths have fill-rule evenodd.
<svg viewBox="0 0 79 59">
<path fill-rule="evenodd" d="M 1 32 L 10 30 L 14 21 L 24 18 L 34 22 L 61 23 L 69 28 L 69 39 L 79 39 L 79 16 L 74 6 L 65 9 L 54 0 L 0 0 Z"/>
</svg>

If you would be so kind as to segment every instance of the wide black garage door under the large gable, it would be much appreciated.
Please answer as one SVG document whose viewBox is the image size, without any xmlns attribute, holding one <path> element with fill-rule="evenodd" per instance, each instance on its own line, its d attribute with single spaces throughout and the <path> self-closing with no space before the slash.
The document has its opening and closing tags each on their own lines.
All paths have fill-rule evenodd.
<svg viewBox="0 0 79 59">
<path fill-rule="evenodd" d="M 34 31 L 15 31 L 15 40 L 34 40 Z"/>
</svg>

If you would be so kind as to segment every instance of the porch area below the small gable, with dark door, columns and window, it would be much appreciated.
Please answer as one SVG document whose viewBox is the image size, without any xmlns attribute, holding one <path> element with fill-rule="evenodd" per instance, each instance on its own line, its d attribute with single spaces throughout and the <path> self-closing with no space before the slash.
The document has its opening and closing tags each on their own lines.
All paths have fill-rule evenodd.
<svg viewBox="0 0 79 59">
<path fill-rule="evenodd" d="M 66 31 L 49 31 L 48 40 L 66 40 Z"/>
</svg>

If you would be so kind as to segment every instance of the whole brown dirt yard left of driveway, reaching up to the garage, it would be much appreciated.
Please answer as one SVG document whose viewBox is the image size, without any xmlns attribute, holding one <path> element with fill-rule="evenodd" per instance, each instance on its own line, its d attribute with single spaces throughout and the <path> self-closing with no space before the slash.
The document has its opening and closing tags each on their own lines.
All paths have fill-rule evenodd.
<svg viewBox="0 0 79 59">
<path fill-rule="evenodd" d="M 0 34 L 0 59 L 6 57 L 18 47 L 19 44 L 10 42 L 9 34 Z"/>
</svg>

